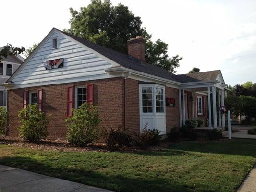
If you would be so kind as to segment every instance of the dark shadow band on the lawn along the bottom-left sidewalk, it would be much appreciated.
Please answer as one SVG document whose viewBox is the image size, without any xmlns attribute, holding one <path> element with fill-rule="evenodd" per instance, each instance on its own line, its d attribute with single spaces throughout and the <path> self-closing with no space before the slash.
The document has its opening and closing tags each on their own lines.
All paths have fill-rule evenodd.
<svg viewBox="0 0 256 192">
<path fill-rule="evenodd" d="M 174 180 L 148 177 L 141 178 L 135 175 L 121 174 L 103 174 L 97 171 L 91 171 L 80 168 L 54 167 L 50 163 L 38 162 L 29 157 L 1 157 L 0 164 L 21 168 L 32 172 L 57 177 L 65 180 L 71 180 L 91 186 L 105 188 L 122 192 L 213 192 L 207 189 L 203 184 L 189 186 Z M 201 190 L 202 189 L 202 190 Z"/>
</svg>

